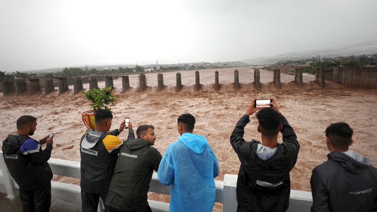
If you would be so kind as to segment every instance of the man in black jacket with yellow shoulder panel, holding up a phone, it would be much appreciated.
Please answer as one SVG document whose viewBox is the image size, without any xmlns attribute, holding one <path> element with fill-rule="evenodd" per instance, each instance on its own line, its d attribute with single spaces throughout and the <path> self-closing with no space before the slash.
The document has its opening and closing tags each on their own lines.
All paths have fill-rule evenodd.
<svg viewBox="0 0 377 212">
<path fill-rule="evenodd" d="M 110 111 L 99 109 L 95 112 L 95 129 L 89 129 L 81 136 L 81 205 L 83 212 L 96 212 L 101 198 L 106 201 L 110 179 L 114 171 L 116 157 L 125 141 L 118 135 L 124 130 L 123 121 L 119 129 L 110 130 L 113 115 Z M 132 124 L 128 123 L 127 140 L 135 138 Z M 105 210 L 108 210 L 106 204 Z"/>
</svg>

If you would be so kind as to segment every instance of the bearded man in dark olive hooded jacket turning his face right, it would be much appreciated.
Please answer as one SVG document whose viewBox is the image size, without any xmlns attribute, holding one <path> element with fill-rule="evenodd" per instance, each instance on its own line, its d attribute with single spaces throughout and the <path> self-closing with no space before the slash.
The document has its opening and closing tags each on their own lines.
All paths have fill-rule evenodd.
<svg viewBox="0 0 377 212">
<path fill-rule="evenodd" d="M 162 158 L 152 147 L 154 129 L 152 125 L 139 126 L 138 138 L 128 140 L 120 149 L 106 200 L 111 212 L 152 212 L 147 194 L 153 170 L 158 171 Z"/>
</svg>

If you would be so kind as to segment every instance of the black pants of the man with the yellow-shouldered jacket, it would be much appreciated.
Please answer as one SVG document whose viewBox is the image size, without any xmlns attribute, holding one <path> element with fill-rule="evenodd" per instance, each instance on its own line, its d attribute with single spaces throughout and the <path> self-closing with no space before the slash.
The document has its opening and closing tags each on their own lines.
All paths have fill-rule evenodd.
<svg viewBox="0 0 377 212">
<path fill-rule="evenodd" d="M 107 192 L 103 194 L 93 194 L 81 191 L 81 209 L 83 212 L 97 212 L 100 197 L 105 206 L 105 211 L 109 211 L 109 208 L 105 204 Z"/>
</svg>

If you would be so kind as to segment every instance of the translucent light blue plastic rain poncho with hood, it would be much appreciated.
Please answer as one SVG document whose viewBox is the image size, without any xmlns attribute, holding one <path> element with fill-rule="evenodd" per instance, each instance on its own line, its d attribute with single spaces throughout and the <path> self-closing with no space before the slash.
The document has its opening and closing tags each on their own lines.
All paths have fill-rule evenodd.
<svg viewBox="0 0 377 212">
<path fill-rule="evenodd" d="M 158 180 L 172 185 L 170 212 L 210 212 L 215 204 L 219 162 L 202 135 L 184 133 L 167 147 L 158 168 Z"/>
</svg>

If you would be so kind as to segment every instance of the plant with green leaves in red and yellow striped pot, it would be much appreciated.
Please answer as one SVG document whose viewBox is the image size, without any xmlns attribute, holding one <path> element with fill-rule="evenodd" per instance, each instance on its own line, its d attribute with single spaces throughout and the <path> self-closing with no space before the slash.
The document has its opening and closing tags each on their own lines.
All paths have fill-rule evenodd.
<svg viewBox="0 0 377 212">
<path fill-rule="evenodd" d="M 109 88 L 93 89 L 93 91 L 83 92 L 84 97 L 87 98 L 92 103 L 92 108 L 89 111 L 85 111 L 81 114 L 81 118 L 85 126 L 88 129 L 95 128 L 94 114 L 99 109 L 106 109 L 110 112 L 111 108 L 108 108 L 107 105 L 114 105 L 115 98 L 112 93 L 112 86 Z"/>
</svg>

